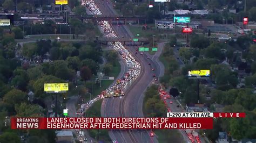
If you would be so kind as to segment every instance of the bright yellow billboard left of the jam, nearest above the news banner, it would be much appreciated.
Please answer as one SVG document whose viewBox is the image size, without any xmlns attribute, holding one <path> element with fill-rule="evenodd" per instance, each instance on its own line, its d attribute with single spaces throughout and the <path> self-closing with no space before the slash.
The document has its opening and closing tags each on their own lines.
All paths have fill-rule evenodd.
<svg viewBox="0 0 256 143">
<path fill-rule="evenodd" d="M 44 83 L 46 92 L 63 92 L 69 90 L 69 83 Z"/>
</svg>

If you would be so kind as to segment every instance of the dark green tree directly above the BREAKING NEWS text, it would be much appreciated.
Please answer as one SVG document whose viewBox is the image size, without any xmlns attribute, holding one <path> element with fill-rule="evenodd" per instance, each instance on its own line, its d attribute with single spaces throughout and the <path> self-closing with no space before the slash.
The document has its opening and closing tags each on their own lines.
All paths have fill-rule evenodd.
<svg viewBox="0 0 256 143">
<path fill-rule="evenodd" d="M 27 103 L 21 103 L 15 105 L 15 111 L 17 112 L 16 117 L 42 117 L 43 108 L 39 105 L 31 105 Z"/>
</svg>

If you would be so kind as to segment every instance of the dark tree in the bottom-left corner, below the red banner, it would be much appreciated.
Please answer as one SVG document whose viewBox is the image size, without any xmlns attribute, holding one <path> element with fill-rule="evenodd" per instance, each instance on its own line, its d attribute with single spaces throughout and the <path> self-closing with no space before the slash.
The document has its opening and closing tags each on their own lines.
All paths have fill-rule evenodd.
<svg viewBox="0 0 256 143">
<path fill-rule="evenodd" d="M 21 143 L 21 138 L 14 132 L 3 132 L 0 135 L 0 142 Z"/>
</svg>

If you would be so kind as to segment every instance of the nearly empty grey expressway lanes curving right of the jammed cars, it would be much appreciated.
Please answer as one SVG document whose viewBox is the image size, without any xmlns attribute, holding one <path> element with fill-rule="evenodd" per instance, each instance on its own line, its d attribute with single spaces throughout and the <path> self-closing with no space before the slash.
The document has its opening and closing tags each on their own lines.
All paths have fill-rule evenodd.
<svg viewBox="0 0 256 143">
<path fill-rule="evenodd" d="M 113 9 L 110 8 L 111 4 L 108 5 L 102 1 L 95 1 L 99 6 L 99 9 L 106 15 L 116 15 Z M 118 37 L 132 38 L 127 28 L 124 25 L 112 26 Z M 161 72 L 161 68 L 156 62 L 157 57 L 155 56 L 152 60 L 148 58 L 149 55 L 144 53 L 135 54 L 136 47 L 127 47 L 134 57 L 139 61 L 142 71 L 136 81 L 126 90 L 123 98 L 106 98 L 102 104 L 102 116 L 104 117 L 143 117 L 142 104 L 143 104 L 143 92 L 151 84 L 156 74 L 158 77 Z M 158 55 L 159 56 L 159 55 Z M 150 65 L 149 65 L 150 63 Z M 152 71 L 154 68 L 156 70 Z M 149 135 L 149 131 L 143 130 L 112 130 L 110 131 L 110 137 L 112 140 L 118 142 L 157 142 L 156 138 L 152 138 Z"/>
</svg>

